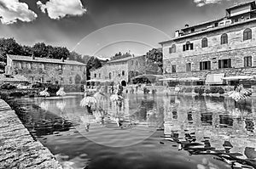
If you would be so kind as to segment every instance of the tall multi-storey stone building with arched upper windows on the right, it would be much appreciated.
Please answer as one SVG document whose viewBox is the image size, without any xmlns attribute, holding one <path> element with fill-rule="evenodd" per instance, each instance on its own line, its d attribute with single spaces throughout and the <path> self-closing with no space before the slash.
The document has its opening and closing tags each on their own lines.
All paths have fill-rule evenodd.
<svg viewBox="0 0 256 169">
<path fill-rule="evenodd" d="M 160 42 L 165 76 L 200 77 L 214 84 L 222 76 L 256 75 L 255 10 L 254 1 L 236 4 L 223 18 L 185 25 Z"/>
</svg>

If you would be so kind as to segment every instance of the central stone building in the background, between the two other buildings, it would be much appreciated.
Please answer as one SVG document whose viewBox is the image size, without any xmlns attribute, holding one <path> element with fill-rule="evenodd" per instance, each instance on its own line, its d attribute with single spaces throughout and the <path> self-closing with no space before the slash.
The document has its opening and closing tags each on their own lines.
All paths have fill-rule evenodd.
<svg viewBox="0 0 256 169">
<path fill-rule="evenodd" d="M 99 69 L 90 71 L 90 79 L 107 80 L 126 86 L 127 83 L 131 82 L 132 77 L 157 73 L 158 65 L 147 59 L 146 55 L 132 56 L 126 54 L 124 57 L 111 59 Z"/>
</svg>

